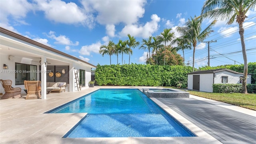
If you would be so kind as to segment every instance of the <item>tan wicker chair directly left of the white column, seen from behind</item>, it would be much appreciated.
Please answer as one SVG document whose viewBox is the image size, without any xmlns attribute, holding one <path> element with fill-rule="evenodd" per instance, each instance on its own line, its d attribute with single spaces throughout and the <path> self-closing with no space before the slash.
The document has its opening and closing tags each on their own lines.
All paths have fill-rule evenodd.
<svg viewBox="0 0 256 144">
<path fill-rule="evenodd" d="M 41 81 L 28 81 L 24 80 L 24 86 L 27 90 L 27 96 L 25 99 L 41 98 Z"/>
</svg>

